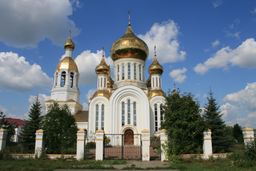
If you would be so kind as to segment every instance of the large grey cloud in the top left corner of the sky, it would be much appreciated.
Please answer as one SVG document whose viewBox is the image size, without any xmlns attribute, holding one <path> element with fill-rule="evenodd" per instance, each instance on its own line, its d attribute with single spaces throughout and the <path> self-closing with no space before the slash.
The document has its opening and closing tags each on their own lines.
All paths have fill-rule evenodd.
<svg viewBox="0 0 256 171">
<path fill-rule="evenodd" d="M 79 7 L 79 1 L 72 2 Z M 0 41 L 13 47 L 34 48 L 45 38 L 62 45 L 69 30 L 73 36 L 80 33 L 75 23 L 68 19 L 73 12 L 68 0 L 0 1 L 0 11 Z"/>
</svg>

